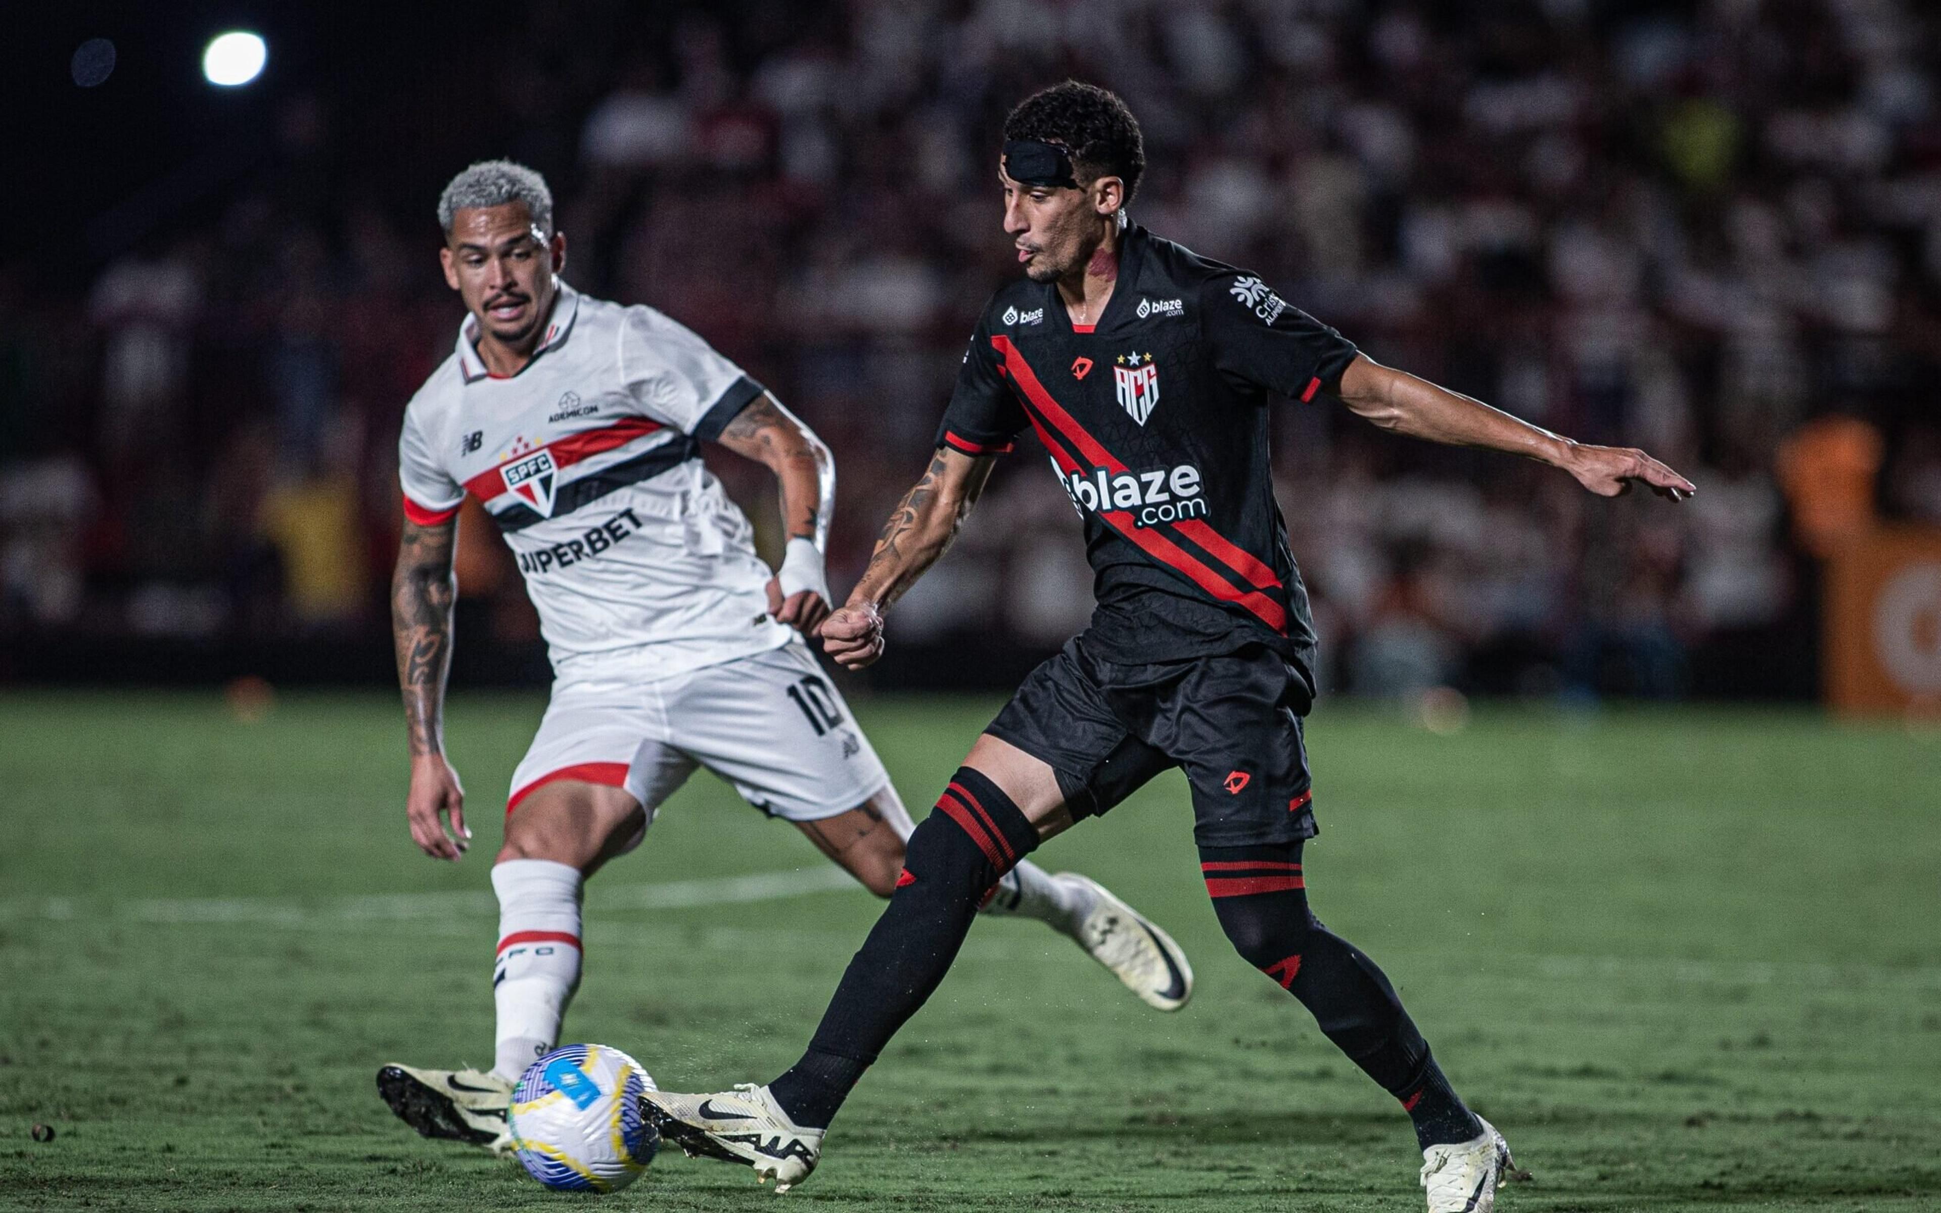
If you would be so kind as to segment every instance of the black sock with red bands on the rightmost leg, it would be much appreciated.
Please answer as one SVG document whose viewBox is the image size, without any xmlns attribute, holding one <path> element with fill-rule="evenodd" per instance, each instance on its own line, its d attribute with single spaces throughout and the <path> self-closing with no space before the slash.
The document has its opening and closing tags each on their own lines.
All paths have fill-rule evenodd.
<svg viewBox="0 0 1941 1213">
<path fill-rule="evenodd" d="M 1200 869 L 1234 949 L 1299 998 L 1322 1034 L 1401 1100 L 1423 1149 L 1483 1131 L 1450 1089 L 1388 976 L 1308 910 L 1299 842 L 1201 846 Z"/>
</svg>

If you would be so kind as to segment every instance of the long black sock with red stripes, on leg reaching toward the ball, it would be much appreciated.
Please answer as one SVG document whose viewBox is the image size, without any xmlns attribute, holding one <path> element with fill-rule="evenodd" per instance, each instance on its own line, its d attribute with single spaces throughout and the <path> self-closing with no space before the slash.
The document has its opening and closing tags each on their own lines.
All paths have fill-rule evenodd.
<svg viewBox="0 0 1941 1213">
<path fill-rule="evenodd" d="M 916 827 L 889 908 L 850 959 L 809 1050 L 769 1083 L 790 1120 L 829 1128 L 862 1071 L 949 972 L 978 906 L 1038 831 L 984 774 L 959 767 Z"/>
</svg>

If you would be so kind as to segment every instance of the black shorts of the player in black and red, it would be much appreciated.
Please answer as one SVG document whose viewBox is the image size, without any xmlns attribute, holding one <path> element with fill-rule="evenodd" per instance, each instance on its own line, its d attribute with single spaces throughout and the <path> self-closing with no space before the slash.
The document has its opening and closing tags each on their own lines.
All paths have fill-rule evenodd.
<svg viewBox="0 0 1941 1213">
<path fill-rule="evenodd" d="M 1180 767 L 1200 846 L 1314 836 L 1300 739 L 1314 689 L 1297 668 L 1264 644 L 1122 666 L 1087 656 L 1083 640 L 1033 670 L 984 730 L 1048 763 L 1073 817 L 1104 813 Z"/>
</svg>

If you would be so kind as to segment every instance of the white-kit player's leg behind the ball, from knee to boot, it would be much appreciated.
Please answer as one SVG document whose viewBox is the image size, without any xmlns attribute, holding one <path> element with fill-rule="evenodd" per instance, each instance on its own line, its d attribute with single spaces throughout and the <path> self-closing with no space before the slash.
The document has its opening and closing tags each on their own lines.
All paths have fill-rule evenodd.
<svg viewBox="0 0 1941 1213">
<path fill-rule="evenodd" d="M 491 873 L 499 895 L 493 1069 L 384 1065 L 378 1093 L 400 1120 L 425 1137 L 493 1151 L 510 1143 L 505 1108 L 512 1085 L 557 1044 L 580 982 L 580 887 L 644 831 L 646 811 L 623 788 L 555 780 L 520 800 Z"/>
</svg>

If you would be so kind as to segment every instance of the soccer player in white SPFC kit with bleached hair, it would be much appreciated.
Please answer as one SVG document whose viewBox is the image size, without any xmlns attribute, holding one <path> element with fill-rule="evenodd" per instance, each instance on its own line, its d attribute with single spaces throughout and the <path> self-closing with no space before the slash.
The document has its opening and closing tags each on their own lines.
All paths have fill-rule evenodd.
<svg viewBox="0 0 1941 1213">
<path fill-rule="evenodd" d="M 425 854 L 458 860 L 472 836 L 443 738 L 466 493 L 518 557 L 553 693 L 512 774 L 491 871 L 493 1067 L 392 1064 L 377 1083 L 419 1133 L 503 1149 L 512 1083 L 559 1042 L 580 980 L 584 879 L 641 842 L 695 767 L 792 821 L 877 897 L 895 889 L 914 827 L 802 640 L 829 615 L 827 446 L 681 324 L 559 281 L 567 241 L 532 169 L 472 165 L 444 188 L 439 221 L 444 281 L 470 314 L 406 408 L 392 578 L 411 743 L 406 817 Z M 703 468 L 703 441 L 780 481 L 778 571 L 755 555 L 747 518 Z M 1019 864 L 986 910 L 1071 935 L 1153 1007 L 1178 1009 L 1192 994 L 1178 945 L 1083 875 Z"/>
</svg>

